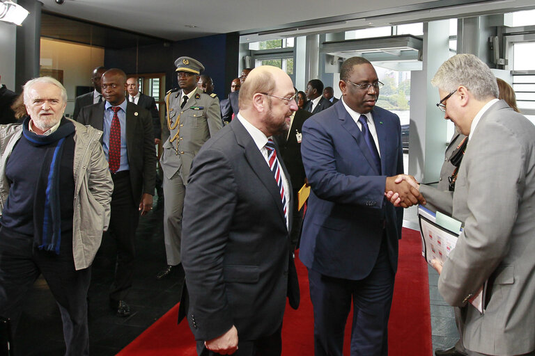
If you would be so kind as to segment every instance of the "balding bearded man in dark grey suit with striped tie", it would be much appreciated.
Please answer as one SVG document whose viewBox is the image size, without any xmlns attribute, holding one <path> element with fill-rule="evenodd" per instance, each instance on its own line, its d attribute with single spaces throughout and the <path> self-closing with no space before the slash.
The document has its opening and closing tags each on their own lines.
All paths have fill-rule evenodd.
<svg viewBox="0 0 535 356">
<path fill-rule="evenodd" d="M 279 68 L 252 70 L 237 118 L 194 159 L 182 256 L 199 355 L 281 355 L 297 278 L 288 277 L 291 184 L 271 136 L 288 129 L 294 95 Z"/>
</svg>

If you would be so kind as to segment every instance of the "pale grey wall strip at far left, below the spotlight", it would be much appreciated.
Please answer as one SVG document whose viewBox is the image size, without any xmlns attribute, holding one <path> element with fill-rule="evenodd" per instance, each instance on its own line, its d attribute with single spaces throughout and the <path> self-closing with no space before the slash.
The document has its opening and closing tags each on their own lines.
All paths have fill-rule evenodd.
<svg viewBox="0 0 535 356">
<path fill-rule="evenodd" d="M 17 26 L 0 22 L 0 76 L 1 83 L 15 92 L 15 49 Z"/>
</svg>

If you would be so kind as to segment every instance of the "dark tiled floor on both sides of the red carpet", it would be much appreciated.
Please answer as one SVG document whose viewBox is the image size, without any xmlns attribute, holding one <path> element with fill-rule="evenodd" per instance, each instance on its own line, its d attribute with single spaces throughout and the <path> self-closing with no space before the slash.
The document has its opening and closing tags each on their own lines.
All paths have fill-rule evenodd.
<svg viewBox="0 0 535 356">
<path fill-rule="evenodd" d="M 165 266 L 162 216 L 162 209 L 157 209 L 140 220 L 134 286 L 127 298 L 132 316 L 128 318 L 116 317 L 108 307 L 108 289 L 114 275 L 114 260 L 110 257 L 114 249 L 109 238 L 104 238 L 93 264 L 89 291 L 91 355 L 115 355 L 179 301 L 183 273 L 176 272 L 166 280 L 155 279 L 156 273 Z M 417 227 L 416 221 L 414 209 L 405 212 L 405 227 Z M 453 309 L 437 291 L 437 278 L 435 270 L 429 268 L 433 348 L 443 348 L 453 346 L 457 331 Z M 56 356 L 63 353 L 61 317 L 46 282 L 39 279 L 26 297 L 15 337 L 15 355 Z"/>
</svg>

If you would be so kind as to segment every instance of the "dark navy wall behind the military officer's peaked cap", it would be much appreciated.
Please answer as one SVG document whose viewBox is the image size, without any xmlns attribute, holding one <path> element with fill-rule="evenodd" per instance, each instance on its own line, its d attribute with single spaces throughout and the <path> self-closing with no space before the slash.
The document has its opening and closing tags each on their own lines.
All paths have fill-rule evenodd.
<svg viewBox="0 0 535 356">
<path fill-rule="evenodd" d="M 212 77 L 214 92 L 219 99 L 226 97 L 226 87 L 235 78 L 238 67 L 238 34 L 211 35 L 191 40 L 146 47 L 107 49 L 104 54 L 106 67 L 118 67 L 127 73 L 166 74 L 166 90 L 178 87 L 175 74 L 175 60 L 188 56 L 199 60 L 205 67 L 204 74 Z M 235 63 L 228 65 L 228 63 Z M 228 81 L 228 85 L 227 85 Z M 227 90 L 228 91 L 228 90 Z"/>
</svg>

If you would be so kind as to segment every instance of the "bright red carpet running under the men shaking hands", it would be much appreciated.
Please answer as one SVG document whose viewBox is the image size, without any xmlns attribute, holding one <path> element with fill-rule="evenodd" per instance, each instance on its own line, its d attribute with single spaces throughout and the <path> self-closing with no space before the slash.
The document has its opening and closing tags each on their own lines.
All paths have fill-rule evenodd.
<svg viewBox="0 0 535 356">
<path fill-rule="evenodd" d="M 301 305 L 286 307 L 282 330 L 284 356 L 313 355 L 313 313 L 307 269 L 296 259 Z M 121 356 L 196 356 L 193 334 L 186 322 L 176 325 L 178 305 L 158 319 L 126 346 Z M 351 316 L 350 316 L 351 318 Z M 350 323 L 346 327 L 344 355 L 349 355 Z M 431 314 L 427 264 L 421 257 L 419 232 L 403 229 L 399 244 L 399 266 L 389 323 L 389 356 L 428 356 L 431 346 Z"/>
</svg>

